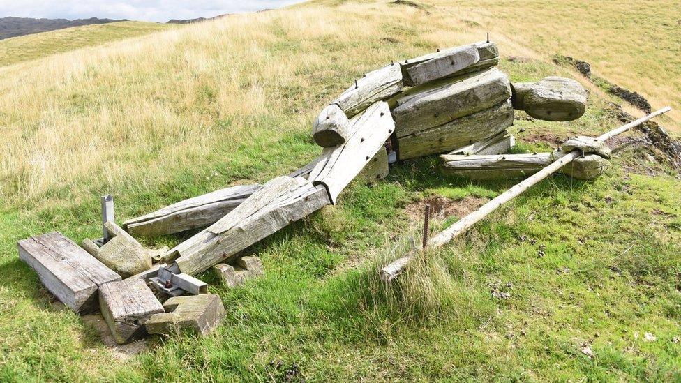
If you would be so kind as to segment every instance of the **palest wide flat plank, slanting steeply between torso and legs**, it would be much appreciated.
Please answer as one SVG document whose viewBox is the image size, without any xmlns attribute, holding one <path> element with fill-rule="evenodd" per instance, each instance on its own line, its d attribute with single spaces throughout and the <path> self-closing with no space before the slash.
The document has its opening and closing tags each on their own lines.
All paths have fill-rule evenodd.
<svg viewBox="0 0 681 383">
<path fill-rule="evenodd" d="M 385 140 L 395 129 L 388 104 L 383 101 L 368 107 L 351 123 L 354 131 L 352 137 L 329 153 L 329 160 L 313 180 L 315 185 L 326 186 L 334 204 L 340 192 L 382 149 Z"/>
</svg>

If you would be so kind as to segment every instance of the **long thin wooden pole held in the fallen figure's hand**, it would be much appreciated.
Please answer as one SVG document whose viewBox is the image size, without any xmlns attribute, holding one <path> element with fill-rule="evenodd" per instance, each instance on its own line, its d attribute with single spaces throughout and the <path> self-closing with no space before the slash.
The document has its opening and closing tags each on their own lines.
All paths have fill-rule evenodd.
<svg viewBox="0 0 681 383">
<path fill-rule="evenodd" d="M 621 133 L 626 132 L 627 130 L 630 130 L 631 128 L 641 125 L 641 123 L 644 123 L 645 121 L 648 121 L 653 117 L 657 117 L 660 114 L 669 112 L 670 110 L 671 107 L 664 107 L 661 110 L 652 112 L 651 114 L 648 114 L 645 117 L 641 117 L 640 119 L 631 121 L 626 125 L 620 126 L 620 128 L 611 130 L 608 133 L 605 133 L 604 135 L 600 135 L 598 139 L 602 141 L 608 140 L 612 137 L 615 137 L 616 135 L 619 135 Z M 581 151 L 578 150 L 571 151 L 562 158 L 555 160 L 553 163 L 551 163 L 551 165 L 544 167 L 544 169 L 539 170 L 539 172 L 523 180 L 521 183 L 518 183 L 516 186 L 513 186 L 509 190 L 506 190 L 504 193 L 497 195 L 497 197 L 493 198 L 493 200 L 490 200 L 486 204 L 482 205 L 480 209 L 473 211 L 472 213 L 468 214 L 461 220 L 458 220 L 456 223 L 454 223 L 454 225 L 451 225 L 446 230 L 440 232 L 440 234 L 433 236 L 433 238 L 431 238 L 431 240 L 428 241 L 428 248 L 430 249 L 440 248 L 441 246 L 444 246 L 444 244 L 449 243 L 449 241 L 456 238 L 456 236 L 463 234 L 472 225 L 478 223 L 482 218 L 485 218 L 496 209 L 499 209 L 500 206 L 502 206 L 503 204 L 509 202 L 510 200 L 513 200 L 515 197 L 518 197 L 518 195 L 521 195 L 523 192 L 525 192 L 525 190 L 536 185 L 537 183 L 539 183 L 539 181 L 545 179 L 554 172 L 557 172 L 558 170 L 560 170 L 560 168 L 571 163 L 575 158 L 578 158 L 581 155 L 582 155 Z M 400 275 L 400 273 L 402 273 L 405 266 L 409 264 L 413 257 L 414 255 L 410 253 L 408 255 L 405 255 L 404 257 L 398 258 L 398 260 L 385 266 L 380 271 L 381 279 L 384 280 L 385 282 L 389 282 L 390 280 L 396 278 L 398 275 Z"/>
</svg>

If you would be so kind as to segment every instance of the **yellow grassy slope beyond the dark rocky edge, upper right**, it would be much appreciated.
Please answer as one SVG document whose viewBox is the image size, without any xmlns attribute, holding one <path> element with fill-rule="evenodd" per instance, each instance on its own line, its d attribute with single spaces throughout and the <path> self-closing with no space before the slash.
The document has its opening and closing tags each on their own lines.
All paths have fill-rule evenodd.
<svg viewBox="0 0 681 383">
<path fill-rule="evenodd" d="M 439 9 L 458 10 L 543 57 L 588 61 L 598 75 L 643 94 L 653 109 L 671 105 L 669 127 L 681 131 L 681 7 L 673 1 L 437 1 L 433 13 Z"/>
</svg>

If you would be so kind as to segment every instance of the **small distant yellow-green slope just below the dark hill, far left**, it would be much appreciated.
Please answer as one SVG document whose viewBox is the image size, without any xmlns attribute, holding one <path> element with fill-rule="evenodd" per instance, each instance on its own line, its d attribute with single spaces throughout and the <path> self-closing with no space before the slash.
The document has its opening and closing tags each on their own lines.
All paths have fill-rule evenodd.
<svg viewBox="0 0 681 383">
<path fill-rule="evenodd" d="M 8 38 L 0 40 L 0 66 L 170 28 L 168 24 L 154 22 L 114 22 Z"/>
</svg>

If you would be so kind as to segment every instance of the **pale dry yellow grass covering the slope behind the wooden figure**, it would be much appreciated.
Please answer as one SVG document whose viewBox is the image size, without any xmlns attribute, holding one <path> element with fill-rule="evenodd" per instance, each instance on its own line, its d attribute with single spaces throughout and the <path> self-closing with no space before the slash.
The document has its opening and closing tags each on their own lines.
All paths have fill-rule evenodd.
<svg viewBox="0 0 681 383">
<path fill-rule="evenodd" d="M 613 22 L 598 24 L 585 5 L 537 4 L 320 1 L 0 68 L 0 198 L 36 200 L 95 181 L 148 188 L 178 169 L 206 165 L 216 153 L 229 156 L 269 130 L 306 130 L 364 70 L 481 40 L 488 29 L 504 56 L 573 54 L 654 106 L 681 104 L 674 94 L 679 44 L 658 49 L 650 44 L 658 35 L 625 41 Z M 609 2 L 599 9 L 636 23 L 631 6 L 622 7 L 626 14 Z M 588 30 L 590 23 L 604 27 Z"/>
</svg>

